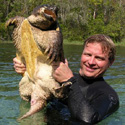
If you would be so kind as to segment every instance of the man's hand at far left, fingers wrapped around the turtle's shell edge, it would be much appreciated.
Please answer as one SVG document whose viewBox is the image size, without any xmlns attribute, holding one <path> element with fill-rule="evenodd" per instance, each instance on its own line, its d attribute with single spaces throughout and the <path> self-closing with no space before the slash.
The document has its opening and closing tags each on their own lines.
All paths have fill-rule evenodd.
<svg viewBox="0 0 125 125">
<path fill-rule="evenodd" d="M 18 74 L 23 74 L 26 71 L 26 66 L 18 60 L 16 57 L 13 58 L 14 69 Z"/>
</svg>

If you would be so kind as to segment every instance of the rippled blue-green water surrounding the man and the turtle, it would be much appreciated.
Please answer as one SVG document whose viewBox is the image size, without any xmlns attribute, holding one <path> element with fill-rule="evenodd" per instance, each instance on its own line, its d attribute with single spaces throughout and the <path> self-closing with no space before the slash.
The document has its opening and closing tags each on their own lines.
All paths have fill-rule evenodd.
<svg viewBox="0 0 125 125">
<path fill-rule="evenodd" d="M 73 72 L 78 72 L 82 46 L 65 45 L 65 57 Z M 106 81 L 117 91 L 120 98 L 120 108 L 98 125 L 125 125 L 125 47 L 117 47 L 116 61 L 105 74 Z M 39 113 L 18 122 L 17 118 L 29 110 L 30 104 L 21 100 L 18 83 L 21 76 L 13 69 L 12 59 L 15 49 L 11 43 L 0 44 L 0 125 L 69 125 L 67 108 L 60 113 L 51 105 Z M 54 104 L 52 104 L 55 106 Z"/>
</svg>

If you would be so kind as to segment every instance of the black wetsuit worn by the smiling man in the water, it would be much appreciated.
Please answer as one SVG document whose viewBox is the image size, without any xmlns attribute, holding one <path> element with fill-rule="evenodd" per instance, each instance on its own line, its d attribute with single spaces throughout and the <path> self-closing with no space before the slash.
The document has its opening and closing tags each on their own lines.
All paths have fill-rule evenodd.
<svg viewBox="0 0 125 125">
<path fill-rule="evenodd" d="M 88 80 L 77 74 L 69 81 L 68 107 L 83 125 L 97 123 L 118 109 L 118 96 L 102 77 Z"/>
</svg>

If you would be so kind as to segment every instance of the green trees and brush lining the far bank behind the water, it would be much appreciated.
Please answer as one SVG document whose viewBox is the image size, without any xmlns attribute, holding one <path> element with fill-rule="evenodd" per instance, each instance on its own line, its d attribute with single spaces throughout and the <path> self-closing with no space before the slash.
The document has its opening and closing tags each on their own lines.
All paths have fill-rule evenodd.
<svg viewBox="0 0 125 125">
<path fill-rule="evenodd" d="M 16 15 L 27 17 L 42 4 L 58 6 L 64 39 L 82 41 L 97 33 L 109 35 L 115 42 L 125 38 L 124 0 L 0 0 L 0 40 L 10 40 L 5 21 Z"/>
</svg>

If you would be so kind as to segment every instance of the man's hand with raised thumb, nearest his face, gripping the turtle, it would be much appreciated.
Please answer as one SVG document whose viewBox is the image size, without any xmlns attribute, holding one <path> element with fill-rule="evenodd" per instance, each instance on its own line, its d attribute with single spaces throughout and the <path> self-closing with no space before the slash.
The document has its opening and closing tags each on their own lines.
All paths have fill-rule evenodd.
<svg viewBox="0 0 125 125">
<path fill-rule="evenodd" d="M 65 63 L 60 62 L 57 65 L 53 63 L 53 68 L 54 68 L 53 77 L 56 79 L 56 81 L 60 83 L 65 82 L 69 80 L 71 77 L 73 77 L 73 73 L 71 69 L 68 67 L 67 60 L 65 60 Z"/>
</svg>

